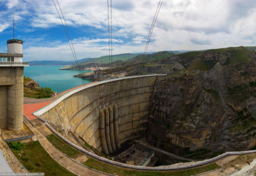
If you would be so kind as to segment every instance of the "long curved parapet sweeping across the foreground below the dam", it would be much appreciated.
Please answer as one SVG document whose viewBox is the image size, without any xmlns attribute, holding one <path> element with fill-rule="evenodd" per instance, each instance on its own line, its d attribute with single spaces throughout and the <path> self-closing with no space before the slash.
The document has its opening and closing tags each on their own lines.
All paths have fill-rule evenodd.
<svg viewBox="0 0 256 176">
<path fill-rule="evenodd" d="M 39 117 L 39 119 L 41 119 Z M 42 121 L 45 121 L 44 119 L 41 119 Z M 210 164 L 212 162 L 217 162 L 217 160 L 222 159 L 224 157 L 228 157 L 230 155 L 244 155 L 244 154 L 248 154 L 248 153 L 256 153 L 256 150 L 248 150 L 248 151 L 239 151 L 239 152 L 226 152 L 223 153 L 222 155 L 219 155 L 217 157 L 213 157 L 211 159 L 205 159 L 201 162 L 196 162 L 196 163 L 192 163 L 190 165 L 187 166 L 157 166 L 157 167 L 147 167 L 147 166 L 133 166 L 133 165 L 129 165 L 129 164 L 122 164 L 119 162 L 114 162 L 110 159 L 106 159 L 104 157 L 100 157 L 98 155 L 95 155 L 93 153 L 90 153 L 88 150 L 85 150 L 84 148 L 81 148 L 80 146 L 77 146 L 75 144 L 73 144 L 73 142 L 69 141 L 68 139 L 64 138 L 62 135 L 60 135 L 60 133 L 57 133 L 56 130 L 54 130 L 46 121 L 46 126 L 48 128 L 50 128 L 53 133 L 55 133 L 55 135 L 57 135 L 57 137 L 60 137 L 63 141 L 65 141 L 67 144 L 73 146 L 73 148 L 79 150 L 80 152 L 89 155 L 89 157 L 92 157 L 93 159 L 97 159 L 100 162 L 104 162 L 113 166 L 118 166 L 121 168 L 128 168 L 128 169 L 133 169 L 133 170 L 143 170 L 143 171 L 172 171 L 172 170 L 185 170 L 185 169 L 190 169 L 190 168 L 196 168 L 199 166 L 205 166 L 207 164 Z"/>
</svg>

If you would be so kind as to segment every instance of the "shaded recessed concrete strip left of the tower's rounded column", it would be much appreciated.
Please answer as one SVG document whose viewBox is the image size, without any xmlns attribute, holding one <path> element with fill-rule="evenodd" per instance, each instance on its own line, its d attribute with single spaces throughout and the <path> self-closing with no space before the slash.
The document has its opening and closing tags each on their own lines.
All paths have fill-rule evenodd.
<svg viewBox="0 0 256 176">
<path fill-rule="evenodd" d="M 0 86 L 0 129 L 7 128 L 6 86 Z"/>
</svg>

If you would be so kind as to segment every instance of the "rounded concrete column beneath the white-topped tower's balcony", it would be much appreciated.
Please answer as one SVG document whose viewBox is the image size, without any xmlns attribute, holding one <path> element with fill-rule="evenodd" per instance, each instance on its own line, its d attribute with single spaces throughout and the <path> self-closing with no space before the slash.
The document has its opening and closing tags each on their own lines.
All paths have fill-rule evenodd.
<svg viewBox="0 0 256 176">
<path fill-rule="evenodd" d="M 24 68 L 16 68 L 16 83 L 7 88 L 7 126 L 9 130 L 23 128 L 23 73 Z"/>
</svg>

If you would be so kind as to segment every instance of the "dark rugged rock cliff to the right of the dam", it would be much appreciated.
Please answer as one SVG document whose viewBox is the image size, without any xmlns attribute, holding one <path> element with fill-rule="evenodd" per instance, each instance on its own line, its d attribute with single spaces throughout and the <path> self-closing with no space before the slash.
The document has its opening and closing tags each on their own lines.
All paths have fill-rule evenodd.
<svg viewBox="0 0 256 176">
<path fill-rule="evenodd" d="M 217 61 L 210 70 L 158 79 L 147 141 L 165 150 L 255 147 L 256 61 L 224 64 L 230 52 L 223 53 L 203 55 Z"/>
</svg>

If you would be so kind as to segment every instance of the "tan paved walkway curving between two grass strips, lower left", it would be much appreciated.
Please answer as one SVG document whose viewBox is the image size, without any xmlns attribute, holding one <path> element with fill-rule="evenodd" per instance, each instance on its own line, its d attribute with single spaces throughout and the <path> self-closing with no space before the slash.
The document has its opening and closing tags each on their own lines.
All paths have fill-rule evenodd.
<svg viewBox="0 0 256 176">
<path fill-rule="evenodd" d="M 67 170 L 70 170 L 72 173 L 75 173 L 76 175 L 105 175 L 104 173 L 99 173 L 95 170 L 91 170 L 73 161 L 72 159 L 61 153 L 59 150 L 57 150 L 53 146 L 53 144 L 51 144 L 51 142 L 46 139 L 46 137 L 39 133 L 39 131 L 32 124 L 30 124 L 30 121 L 26 121 L 25 123 L 28 126 L 28 128 L 30 128 L 30 130 L 32 130 L 32 132 L 35 134 L 35 137 L 37 137 L 38 141 L 44 147 L 46 152 L 49 155 L 51 155 L 51 157 L 53 157 L 53 159 L 55 159 L 56 162 L 58 162 Z"/>
</svg>

